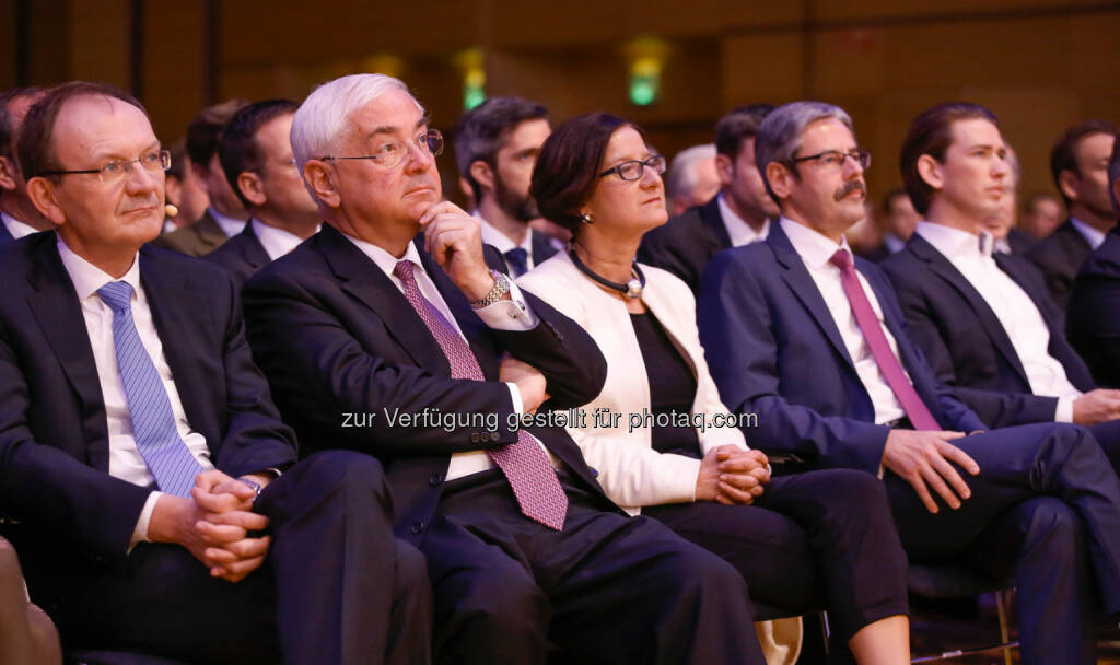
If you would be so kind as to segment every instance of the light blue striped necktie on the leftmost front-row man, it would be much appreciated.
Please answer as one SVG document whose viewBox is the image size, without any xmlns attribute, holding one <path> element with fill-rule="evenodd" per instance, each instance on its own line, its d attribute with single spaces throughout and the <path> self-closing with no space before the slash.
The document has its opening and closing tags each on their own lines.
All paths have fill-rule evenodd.
<svg viewBox="0 0 1120 665">
<path fill-rule="evenodd" d="M 161 491 L 189 496 L 203 467 L 179 437 L 171 401 L 132 322 L 132 287 L 128 282 L 109 282 L 97 289 L 97 296 L 113 310 L 113 346 L 137 449 Z"/>
</svg>

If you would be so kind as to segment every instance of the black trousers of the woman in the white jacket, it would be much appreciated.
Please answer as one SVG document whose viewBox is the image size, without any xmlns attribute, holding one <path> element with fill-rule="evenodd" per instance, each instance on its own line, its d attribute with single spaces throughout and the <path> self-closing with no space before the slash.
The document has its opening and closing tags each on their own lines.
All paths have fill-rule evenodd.
<svg viewBox="0 0 1120 665">
<path fill-rule="evenodd" d="M 840 645 L 868 624 L 907 612 L 906 554 L 887 493 L 864 471 L 775 477 L 749 506 L 701 502 L 642 512 L 734 565 L 752 599 L 791 614 L 829 610 Z"/>
</svg>

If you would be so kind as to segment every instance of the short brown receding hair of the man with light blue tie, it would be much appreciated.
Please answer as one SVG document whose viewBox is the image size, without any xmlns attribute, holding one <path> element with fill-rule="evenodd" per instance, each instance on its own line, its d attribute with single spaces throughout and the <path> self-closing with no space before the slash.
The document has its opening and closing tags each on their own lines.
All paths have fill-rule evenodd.
<svg viewBox="0 0 1120 665">
<path fill-rule="evenodd" d="M 75 97 L 87 96 L 121 100 L 136 106 L 144 114 L 144 118 L 148 118 L 148 110 L 143 107 L 143 104 L 115 85 L 72 81 L 53 87 L 28 109 L 27 115 L 24 118 L 24 127 L 19 130 L 17 151 L 24 178 L 30 180 L 41 176 L 45 171 L 63 168 L 58 163 L 53 144 L 58 112 L 62 111 L 66 102 Z"/>
</svg>

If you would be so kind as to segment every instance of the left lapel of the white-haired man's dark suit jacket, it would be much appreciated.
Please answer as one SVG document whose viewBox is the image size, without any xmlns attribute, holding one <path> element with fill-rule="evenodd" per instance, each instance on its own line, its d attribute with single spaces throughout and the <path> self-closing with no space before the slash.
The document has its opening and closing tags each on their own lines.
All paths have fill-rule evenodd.
<svg viewBox="0 0 1120 665">
<path fill-rule="evenodd" d="M 450 376 L 451 366 L 439 343 L 389 275 L 329 225 L 324 224 L 317 242 L 335 277 L 342 281 L 343 290 L 377 315 L 416 364 L 431 371 L 439 368 Z"/>
</svg>

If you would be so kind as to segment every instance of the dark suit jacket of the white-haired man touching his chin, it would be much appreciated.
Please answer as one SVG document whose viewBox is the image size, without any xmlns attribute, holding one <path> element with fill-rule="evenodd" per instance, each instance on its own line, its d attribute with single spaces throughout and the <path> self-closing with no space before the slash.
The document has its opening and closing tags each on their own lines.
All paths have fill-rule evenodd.
<svg viewBox="0 0 1120 665">
<path fill-rule="evenodd" d="M 454 452 L 512 443 L 510 390 L 497 381 L 504 352 L 548 378 L 549 404 L 568 409 L 589 402 L 606 380 L 606 362 L 579 326 L 530 293 L 540 325 L 524 332 L 492 330 L 463 292 L 419 245 L 437 284 L 477 356 L 486 382 L 451 378 L 435 337 L 393 284 L 365 254 L 330 226 L 273 261 L 245 284 L 245 317 L 254 357 L 305 451 L 351 448 L 385 466 L 395 505 L 396 532 L 418 542 L 430 524 Z M 487 249 L 492 265 L 501 254 Z M 496 414 L 451 432 L 438 423 L 390 422 L 394 412 Z M 346 414 L 372 414 L 353 427 Z M 362 418 L 362 416 L 357 416 Z M 578 478 L 612 506 L 579 448 L 560 428 L 528 428 Z"/>
</svg>

